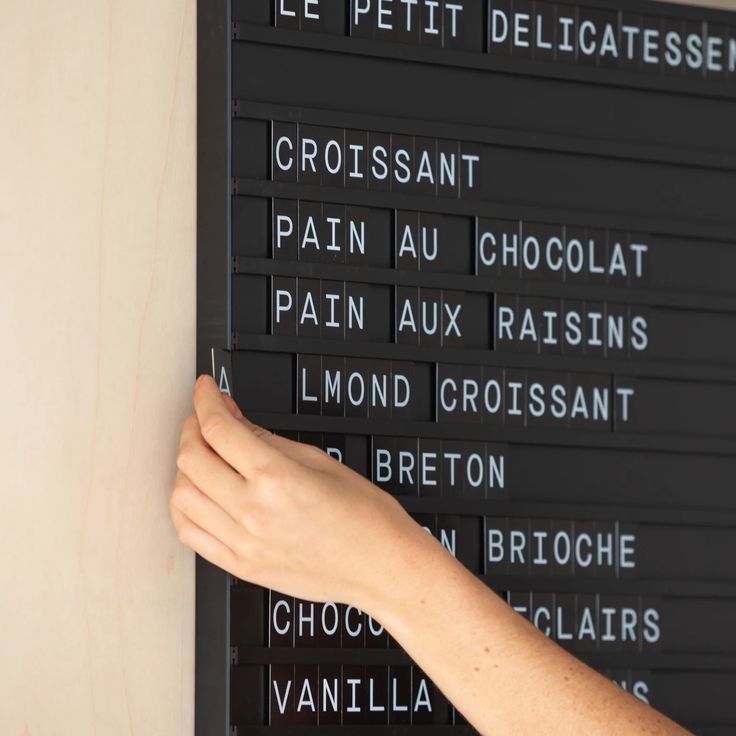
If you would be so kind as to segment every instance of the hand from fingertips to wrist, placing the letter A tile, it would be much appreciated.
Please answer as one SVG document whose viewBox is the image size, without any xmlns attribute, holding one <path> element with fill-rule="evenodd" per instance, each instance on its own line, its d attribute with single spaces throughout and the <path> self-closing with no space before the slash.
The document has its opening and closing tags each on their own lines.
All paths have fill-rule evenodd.
<svg viewBox="0 0 736 736">
<path fill-rule="evenodd" d="M 194 408 L 170 499 L 180 540 L 238 578 L 380 616 L 398 568 L 432 537 L 322 450 L 251 424 L 208 376 Z"/>
</svg>

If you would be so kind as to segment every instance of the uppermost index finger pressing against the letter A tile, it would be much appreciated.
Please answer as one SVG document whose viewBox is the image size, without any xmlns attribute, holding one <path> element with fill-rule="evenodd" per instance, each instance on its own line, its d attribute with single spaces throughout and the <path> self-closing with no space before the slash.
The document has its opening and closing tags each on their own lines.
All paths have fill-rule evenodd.
<svg viewBox="0 0 736 736">
<path fill-rule="evenodd" d="M 197 379 L 194 411 L 207 444 L 245 478 L 252 476 L 259 467 L 285 459 L 276 448 L 233 416 L 210 376 Z"/>
</svg>

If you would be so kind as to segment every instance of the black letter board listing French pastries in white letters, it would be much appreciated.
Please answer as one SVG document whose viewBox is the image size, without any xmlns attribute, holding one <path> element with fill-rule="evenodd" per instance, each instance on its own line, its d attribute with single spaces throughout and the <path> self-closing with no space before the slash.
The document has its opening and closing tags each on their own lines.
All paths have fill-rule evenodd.
<svg viewBox="0 0 736 736">
<path fill-rule="evenodd" d="M 200 0 L 198 368 L 560 645 L 736 732 L 736 15 Z M 199 736 L 472 733 L 197 567 Z"/>
</svg>

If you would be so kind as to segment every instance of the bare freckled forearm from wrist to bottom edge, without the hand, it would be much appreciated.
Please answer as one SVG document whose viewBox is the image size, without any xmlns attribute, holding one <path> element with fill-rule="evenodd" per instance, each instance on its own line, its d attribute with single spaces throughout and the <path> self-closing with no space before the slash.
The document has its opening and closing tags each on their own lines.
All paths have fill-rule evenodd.
<svg viewBox="0 0 736 736">
<path fill-rule="evenodd" d="M 483 734 L 684 734 L 515 613 L 434 540 L 372 613 Z"/>
</svg>

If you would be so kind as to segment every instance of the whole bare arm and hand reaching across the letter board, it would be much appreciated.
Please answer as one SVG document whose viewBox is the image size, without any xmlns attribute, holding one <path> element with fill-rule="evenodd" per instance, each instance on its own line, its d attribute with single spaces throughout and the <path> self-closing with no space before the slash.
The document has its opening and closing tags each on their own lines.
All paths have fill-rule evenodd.
<svg viewBox="0 0 736 736">
<path fill-rule="evenodd" d="M 362 608 L 483 734 L 685 733 L 537 632 L 365 478 L 254 427 L 210 378 L 194 405 L 170 505 L 207 560 Z"/>
</svg>

